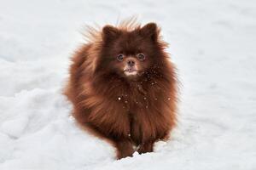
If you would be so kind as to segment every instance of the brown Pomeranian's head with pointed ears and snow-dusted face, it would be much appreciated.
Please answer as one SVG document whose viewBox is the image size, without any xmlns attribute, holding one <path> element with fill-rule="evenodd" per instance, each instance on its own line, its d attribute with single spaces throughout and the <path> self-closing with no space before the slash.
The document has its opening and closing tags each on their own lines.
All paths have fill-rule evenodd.
<svg viewBox="0 0 256 170">
<path fill-rule="evenodd" d="M 136 78 L 159 61 L 159 29 L 154 23 L 126 31 L 113 26 L 102 29 L 101 65 L 120 77 Z"/>
</svg>

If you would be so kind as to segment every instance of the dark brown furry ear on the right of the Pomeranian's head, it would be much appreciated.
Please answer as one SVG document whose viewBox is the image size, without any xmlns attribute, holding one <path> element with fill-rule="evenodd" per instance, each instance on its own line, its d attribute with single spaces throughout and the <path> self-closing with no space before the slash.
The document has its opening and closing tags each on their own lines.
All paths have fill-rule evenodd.
<svg viewBox="0 0 256 170">
<path fill-rule="evenodd" d="M 155 42 L 157 41 L 159 31 L 156 24 L 150 22 L 141 28 L 140 33 L 143 37 L 150 37 Z"/>
</svg>

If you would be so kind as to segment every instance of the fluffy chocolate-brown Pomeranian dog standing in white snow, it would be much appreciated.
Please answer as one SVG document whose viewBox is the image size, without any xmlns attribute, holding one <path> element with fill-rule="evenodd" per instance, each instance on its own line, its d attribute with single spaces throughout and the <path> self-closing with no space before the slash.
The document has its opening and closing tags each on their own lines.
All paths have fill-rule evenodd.
<svg viewBox="0 0 256 170">
<path fill-rule="evenodd" d="M 87 31 L 65 90 L 73 116 L 108 139 L 117 158 L 152 152 L 175 126 L 177 80 L 160 28 L 132 20 Z"/>
</svg>

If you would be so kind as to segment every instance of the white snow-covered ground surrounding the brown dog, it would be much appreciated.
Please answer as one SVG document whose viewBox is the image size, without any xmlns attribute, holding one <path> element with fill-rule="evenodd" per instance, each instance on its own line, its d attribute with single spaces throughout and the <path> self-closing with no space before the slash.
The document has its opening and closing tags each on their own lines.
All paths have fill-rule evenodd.
<svg viewBox="0 0 256 170">
<path fill-rule="evenodd" d="M 154 153 L 114 160 L 61 95 L 84 24 L 156 21 L 181 87 L 179 124 Z M 0 0 L 0 169 L 256 169 L 253 0 Z"/>
</svg>

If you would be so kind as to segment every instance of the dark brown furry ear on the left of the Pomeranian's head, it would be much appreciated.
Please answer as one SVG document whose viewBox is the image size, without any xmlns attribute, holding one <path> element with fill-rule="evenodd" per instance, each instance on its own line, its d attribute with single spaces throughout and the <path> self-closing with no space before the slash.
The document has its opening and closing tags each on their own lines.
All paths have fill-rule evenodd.
<svg viewBox="0 0 256 170">
<path fill-rule="evenodd" d="M 110 42 L 120 35 L 119 29 L 113 26 L 104 26 L 102 29 L 102 39 L 104 42 Z"/>
</svg>

